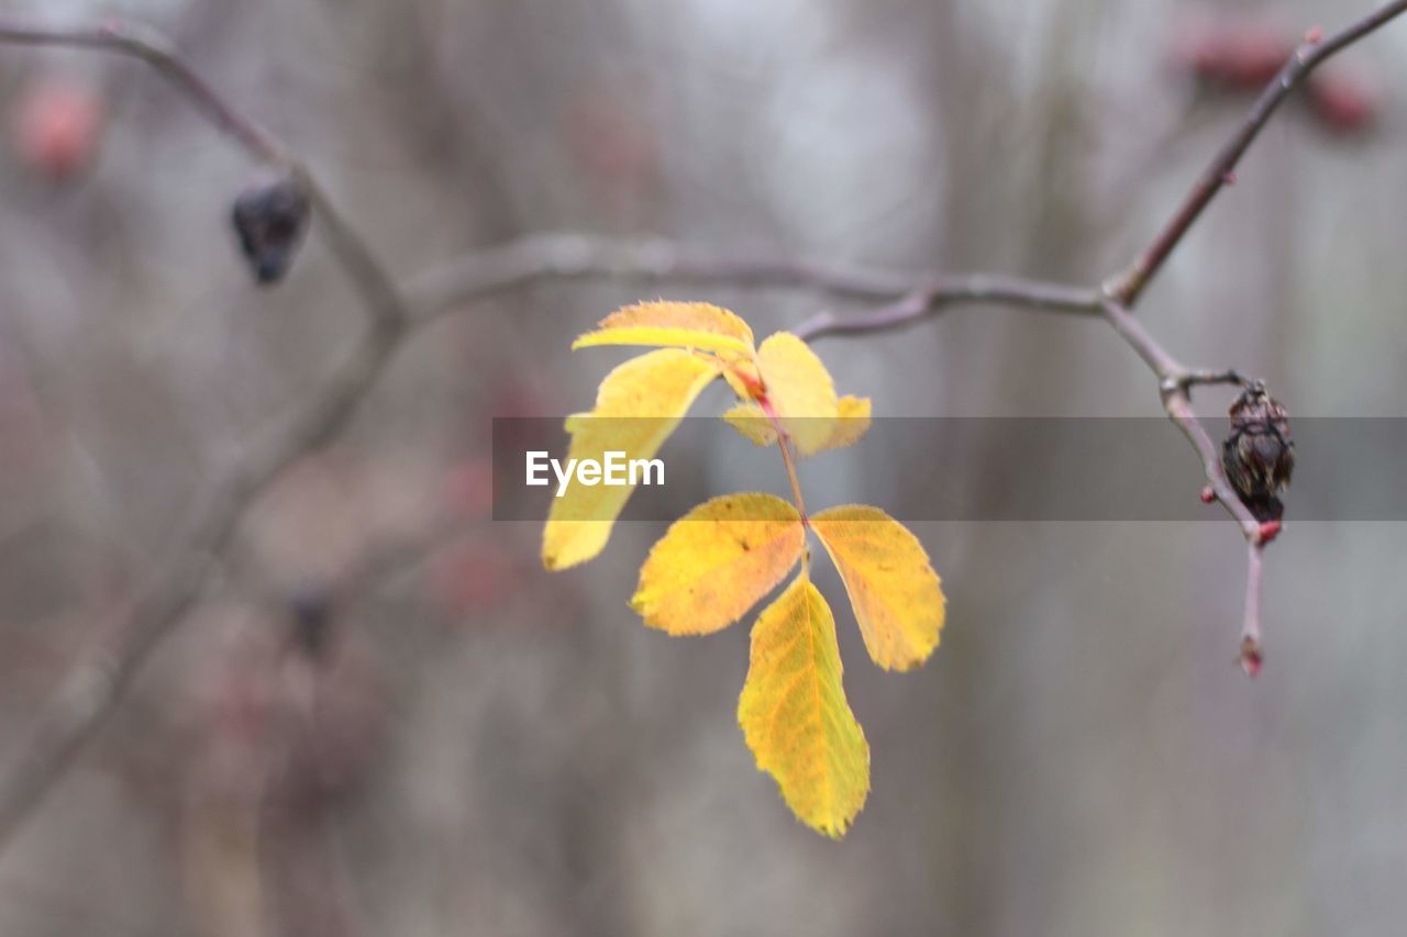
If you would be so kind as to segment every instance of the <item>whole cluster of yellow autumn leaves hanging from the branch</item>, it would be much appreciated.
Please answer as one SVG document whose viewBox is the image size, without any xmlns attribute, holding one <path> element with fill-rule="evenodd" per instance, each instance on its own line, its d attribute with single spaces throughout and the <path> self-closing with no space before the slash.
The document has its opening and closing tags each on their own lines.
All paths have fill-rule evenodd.
<svg viewBox="0 0 1407 937">
<path fill-rule="evenodd" d="M 761 343 L 736 314 L 705 302 L 630 305 L 573 349 L 643 345 L 656 350 L 606 374 L 595 408 L 567 419 L 568 459 L 623 452 L 651 459 L 704 388 L 725 380 L 737 397 L 722 418 L 760 446 L 777 446 L 792 501 L 761 492 L 712 498 L 675 521 L 650 550 L 630 606 L 670 635 L 709 635 L 740 620 L 798 567 L 753 625 L 737 719 L 758 768 L 815 830 L 839 837 L 870 792 L 870 746 L 846 701 L 830 605 L 810 581 L 806 532 L 840 570 L 870 657 L 886 670 L 922 664 L 938 644 L 944 598 L 929 556 L 903 525 L 865 505 L 808 515 L 799 456 L 857 443 L 871 402 L 840 397 L 798 336 Z M 632 488 L 574 485 L 554 499 L 543 564 L 563 570 L 605 549 Z"/>
</svg>

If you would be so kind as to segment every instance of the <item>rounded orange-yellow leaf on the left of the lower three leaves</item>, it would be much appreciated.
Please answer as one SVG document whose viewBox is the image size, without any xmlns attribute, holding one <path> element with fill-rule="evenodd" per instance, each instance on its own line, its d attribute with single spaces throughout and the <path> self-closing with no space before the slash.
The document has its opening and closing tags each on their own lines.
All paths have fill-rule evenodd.
<svg viewBox="0 0 1407 937">
<path fill-rule="evenodd" d="M 650 550 L 630 608 L 670 635 L 709 635 L 771 592 L 805 542 L 796 508 L 775 495 L 705 501 Z"/>
</svg>

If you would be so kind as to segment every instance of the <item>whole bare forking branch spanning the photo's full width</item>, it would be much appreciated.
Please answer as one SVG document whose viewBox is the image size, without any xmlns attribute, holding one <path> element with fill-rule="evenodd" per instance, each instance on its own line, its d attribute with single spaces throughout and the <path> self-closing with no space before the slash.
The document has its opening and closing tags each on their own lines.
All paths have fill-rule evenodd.
<svg viewBox="0 0 1407 937">
<path fill-rule="evenodd" d="M 166 564 L 118 622 L 107 647 L 77 664 L 35 720 L 17 758 L 0 775 L 0 847 L 114 712 L 141 665 L 198 601 L 229 549 L 245 509 L 284 468 L 333 438 L 374 388 L 387 363 L 419 325 L 466 302 L 550 279 L 620 279 L 799 287 L 851 301 L 877 302 L 870 315 L 820 315 L 803 324 L 808 339 L 867 335 L 919 322 L 947 305 L 1002 302 L 1050 312 L 1102 314 L 1158 377 L 1164 409 L 1202 457 L 1214 497 L 1249 543 L 1242 661 L 1259 661 L 1261 552 L 1266 533 L 1231 490 L 1216 445 L 1190 405 L 1193 385 L 1237 383 L 1233 371 L 1190 370 L 1168 355 L 1130 310 L 1172 249 L 1200 217 L 1293 87 L 1320 62 L 1407 10 L 1407 0 L 1382 7 L 1328 41 L 1309 39 L 1262 93 L 1245 122 L 1197 180 L 1154 245 L 1102 290 L 993 276 L 923 276 L 846 269 L 753 255 L 696 252 L 663 241 L 612 242 L 574 235 L 539 235 L 473 253 L 397 288 L 364 241 L 342 219 L 312 174 L 257 122 L 221 98 L 159 34 L 121 23 L 97 27 L 32 27 L 0 17 L 0 42 L 93 48 L 136 58 L 160 76 L 253 158 L 294 173 L 308 189 L 333 256 L 367 307 L 370 326 L 352 355 L 311 394 L 294 419 L 248 449 L 214 485 L 214 492 Z M 1273 536 L 1273 533 L 1271 535 Z"/>
</svg>

